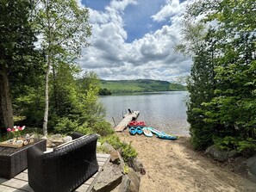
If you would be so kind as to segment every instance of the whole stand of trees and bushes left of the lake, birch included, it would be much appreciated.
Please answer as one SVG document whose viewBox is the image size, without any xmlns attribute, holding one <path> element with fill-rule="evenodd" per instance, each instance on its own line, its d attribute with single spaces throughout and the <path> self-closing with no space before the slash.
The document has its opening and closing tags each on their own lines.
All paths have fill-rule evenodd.
<svg viewBox="0 0 256 192">
<path fill-rule="evenodd" d="M 89 10 L 76 0 L 1 0 L 0 126 L 89 133 L 110 127 L 94 72 L 78 75 L 91 35 Z"/>
</svg>

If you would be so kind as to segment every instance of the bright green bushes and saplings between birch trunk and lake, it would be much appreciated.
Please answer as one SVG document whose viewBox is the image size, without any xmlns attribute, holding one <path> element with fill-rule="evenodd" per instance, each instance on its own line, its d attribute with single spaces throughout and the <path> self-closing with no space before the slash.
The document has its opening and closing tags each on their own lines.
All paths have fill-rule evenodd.
<svg viewBox="0 0 256 192">
<path fill-rule="evenodd" d="M 54 86 L 50 94 L 49 130 L 68 134 L 98 133 L 102 136 L 113 133 L 105 117 L 105 109 L 98 102 L 98 80 L 93 72 L 86 72 L 76 79 L 77 67 L 59 65 L 55 68 Z M 83 89 L 82 89 L 83 88 Z"/>
</svg>

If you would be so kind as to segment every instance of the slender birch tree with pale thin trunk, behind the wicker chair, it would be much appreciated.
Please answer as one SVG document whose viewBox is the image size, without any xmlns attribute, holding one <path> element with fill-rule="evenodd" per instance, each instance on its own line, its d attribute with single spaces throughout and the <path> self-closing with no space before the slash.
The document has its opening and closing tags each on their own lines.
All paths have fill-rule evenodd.
<svg viewBox="0 0 256 192">
<path fill-rule="evenodd" d="M 47 135 L 49 75 L 59 62 L 73 62 L 82 46 L 88 46 L 86 38 L 91 35 L 91 26 L 89 10 L 79 7 L 76 0 L 39 0 L 36 3 L 35 23 L 46 55 L 43 134 Z"/>
</svg>

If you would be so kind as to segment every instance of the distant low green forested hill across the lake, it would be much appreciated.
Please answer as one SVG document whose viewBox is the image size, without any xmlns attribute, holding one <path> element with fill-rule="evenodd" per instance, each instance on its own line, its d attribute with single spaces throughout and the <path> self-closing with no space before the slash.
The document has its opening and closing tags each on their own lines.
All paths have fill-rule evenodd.
<svg viewBox="0 0 256 192">
<path fill-rule="evenodd" d="M 101 80 L 101 88 L 112 93 L 134 93 L 134 92 L 154 92 L 154 91 L 174 91 L 186 90 L 181 84 L 172 84 L 167 81 L 137 79 L 137 80 Z"/>
</svg>

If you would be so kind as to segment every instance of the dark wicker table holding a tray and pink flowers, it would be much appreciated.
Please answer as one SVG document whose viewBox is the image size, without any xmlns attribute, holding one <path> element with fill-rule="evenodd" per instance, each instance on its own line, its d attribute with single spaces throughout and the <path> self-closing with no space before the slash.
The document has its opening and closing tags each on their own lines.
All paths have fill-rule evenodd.
<svg viewBox="0 0 256 192">
<path fill-rule="evenodd" d="M 47 149 L 46 139 L 34 139 L 34 142 L 20 148 L 0 146 L 0 177 L 12 178 L 22 170 L 26 170 L 27 151 L 30 147 L 36 146 L 42 152 Z"/>
</svg>

